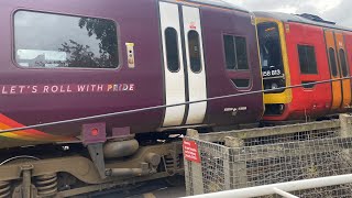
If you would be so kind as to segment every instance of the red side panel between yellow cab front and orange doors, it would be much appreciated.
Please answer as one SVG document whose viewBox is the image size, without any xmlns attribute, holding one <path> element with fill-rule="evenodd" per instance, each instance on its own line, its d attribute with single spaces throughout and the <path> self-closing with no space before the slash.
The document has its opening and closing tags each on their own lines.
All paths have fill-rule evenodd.
<svg viewBox="0 0 352 198">
<path fill-rule="evenodd" d="M 292 85 L 330 79 L 322 29 L 298 23 L 286 23 L 285 25 L 289 25 L 289 31 L 286 31 L 286 43 Z M 307 56 L 311 63 L 308 65 L 304 63 L 302 56 Z M 319 84 L 295 88 L 293 98 L 293 102 L 287 106 L 289 116 L 286 119 L 315 118 L 326 114 L 330 110 L 332 100 L 331 85 Z"/>
</svg>

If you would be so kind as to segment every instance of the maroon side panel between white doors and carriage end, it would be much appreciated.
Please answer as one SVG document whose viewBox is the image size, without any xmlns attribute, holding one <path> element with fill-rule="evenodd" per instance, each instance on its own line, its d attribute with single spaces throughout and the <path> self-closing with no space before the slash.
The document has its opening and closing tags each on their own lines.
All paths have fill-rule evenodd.
<svg viewBox="0 0 352 198">
<path fill-rule="evenodd" d="M 208 72 L 208 98 L 262 90 L 255 26 L 251 15 L 209 8 L 204 8 L 201 15 Z M 229 41 L 231 43 L 232 38 L 234 42 L 237 38 L 245 38 L 248 69 L 231 68 L 231 63 L 227 62 L 226 44 Z M 263 114 L 263 94 L 213 100 L 208 107 L 209 123 L 255 122 Z"/>
</svg>

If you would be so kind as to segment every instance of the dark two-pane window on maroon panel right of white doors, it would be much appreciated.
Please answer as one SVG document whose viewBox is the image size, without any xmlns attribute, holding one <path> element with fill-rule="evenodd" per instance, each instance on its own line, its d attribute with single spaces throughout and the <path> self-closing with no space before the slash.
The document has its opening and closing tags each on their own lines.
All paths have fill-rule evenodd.
<svg viewBox="0 0 352 198">
<path fill-rule="evenodd" d="M 226 66 L 229 70 L 248 70 L 249 61 L 245 37 L 223 35 Z"/>
</svg>

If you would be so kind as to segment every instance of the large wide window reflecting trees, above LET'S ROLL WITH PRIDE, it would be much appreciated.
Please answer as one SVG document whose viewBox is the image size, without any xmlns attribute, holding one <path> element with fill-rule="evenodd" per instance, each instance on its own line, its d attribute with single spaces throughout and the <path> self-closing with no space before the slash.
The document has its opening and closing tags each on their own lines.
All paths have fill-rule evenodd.
<svg viewBox="0 0 352 198">
<path fill-rule="evenodd" d="M 32 11 L 14 14 L 15 61 L 23 67 L 117 68 L 112 20 Z"/>
</svg>

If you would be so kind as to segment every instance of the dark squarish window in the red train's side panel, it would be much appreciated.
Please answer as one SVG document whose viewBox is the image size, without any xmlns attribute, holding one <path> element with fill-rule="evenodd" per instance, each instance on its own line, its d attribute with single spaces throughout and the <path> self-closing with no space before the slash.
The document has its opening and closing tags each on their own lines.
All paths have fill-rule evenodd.
<svg viewBox="0 0 352 198">
<path fill-rule="evenodd" d="M 298 45 L 301 74 L 318 74 L 316 51 L 314 46 Z"/>
</svg>

